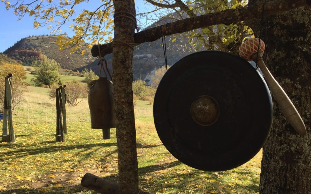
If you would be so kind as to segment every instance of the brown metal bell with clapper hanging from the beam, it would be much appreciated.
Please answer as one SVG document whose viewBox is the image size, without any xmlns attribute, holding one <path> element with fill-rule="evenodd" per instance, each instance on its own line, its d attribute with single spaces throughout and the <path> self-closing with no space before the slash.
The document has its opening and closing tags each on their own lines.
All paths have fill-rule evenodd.
<svg viewBox="0 0 311 194">
<path fill-rule="evenodd" d="M 103 139 L 110 139 L 110 129 L 115 128 L 113 85 L 107 77 L 100 77 L 89 86 L 91 128 L 103 129 Z"/>
</svg>

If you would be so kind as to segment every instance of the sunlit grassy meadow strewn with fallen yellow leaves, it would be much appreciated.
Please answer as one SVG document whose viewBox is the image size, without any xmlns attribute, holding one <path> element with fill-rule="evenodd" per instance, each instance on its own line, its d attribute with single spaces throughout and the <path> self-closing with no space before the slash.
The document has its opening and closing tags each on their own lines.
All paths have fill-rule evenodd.
<svg viewBox="0 0 311 194">
<path fill-rule="evenodd" d="M 56 108 L 48 88 L 28 86 L 13 114 L 15 143 L 0 143 L 0 193 L 95 193 L 80 186 L 87 172 L 118 180 L 115 129 L 91 129 L 87 99 L 66 106 L 65 142 L 55 142 Z M 175 159 L 162 145 L 152 105 L 134 107 L 140 188 L 150 193 L 258 193 L 262 152 L 232 170 L 205 172 Z"/>
</svg>

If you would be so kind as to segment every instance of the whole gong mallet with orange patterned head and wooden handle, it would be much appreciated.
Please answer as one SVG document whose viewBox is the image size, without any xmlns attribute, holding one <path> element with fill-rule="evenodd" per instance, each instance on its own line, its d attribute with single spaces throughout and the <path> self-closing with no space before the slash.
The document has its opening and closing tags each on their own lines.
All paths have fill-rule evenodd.
<svg viewBox="0 0 311 194">
<path fill-rule="evenodd" d="M 259 49 L 258 49 L 259 46 Z M 262 74 L 265 76 L 266 81 L 271 89 L 276 102 L 279 104 L 281 110 L 284 112 L 285 117 L 294 129 L 300 134 L 307 134 L 304 121 L 301 119 L 294 104 L 290 101 L 289 97 L 284 92 L 283 88 L 277 83 L 276 79 L 272 76 L 267 66 L 262 60 L 262 54 L 265 50 L 265 43 L 259 38 L 249 38 L 242 43 L 239 47 L 239 55 L 247 61 L 255 61 Z"/>
</svg>

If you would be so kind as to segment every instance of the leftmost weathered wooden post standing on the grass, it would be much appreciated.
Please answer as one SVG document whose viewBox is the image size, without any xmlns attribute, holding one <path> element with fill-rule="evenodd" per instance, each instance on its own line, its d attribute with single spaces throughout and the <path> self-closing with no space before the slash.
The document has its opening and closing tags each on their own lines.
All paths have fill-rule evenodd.
<svg viewBox="0 0 311 194">
<path fill-rule="evenodd" d="M 12 81 L 10 77 L 12 74 L 8 74 L 5 77 L 5 92 L 4 92 L 4 108 L 3 108 L 3 124 L 2 124 L 2 141 L 3 142 L 15 142 L 15 134 L 12 122 Z M 9 128 L 9 131 L 7 131 Z M 8 133 L 9 132 L 9 133 Z"/>
</svg>

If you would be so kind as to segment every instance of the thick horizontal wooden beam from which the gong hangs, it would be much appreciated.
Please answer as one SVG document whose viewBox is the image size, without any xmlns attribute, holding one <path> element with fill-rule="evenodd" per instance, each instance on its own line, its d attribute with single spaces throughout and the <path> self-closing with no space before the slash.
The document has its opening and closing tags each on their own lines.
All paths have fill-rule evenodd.
<svg viewBox="0 0 311 194">
<path fill-rule="evenodd" d="M 259 19 L 261 16 L 271 16 L 299 7 L 311 6 L 311 0 L 275 0 L 266 3 L 258 3 L 246 8 L 236 10 L 228 9 L 216 13 L 210 13 L 202 16 L 186 18 L 165 25 L 146 29 L 135 34 L 135 43 L 145 43 L 155 41 L 162 36 L 187 32 L 192 29 L 203 28 L 216 24 L 232 24 L 244 20 Z M 262 8 L 264 13 L 262 13 Z M 112 53 L 112 44 L 100 45 L 101 55 Z M 99 56 L 98 46 L 94 45 L 91 50 L 92 56 Z"/>
</svg>

